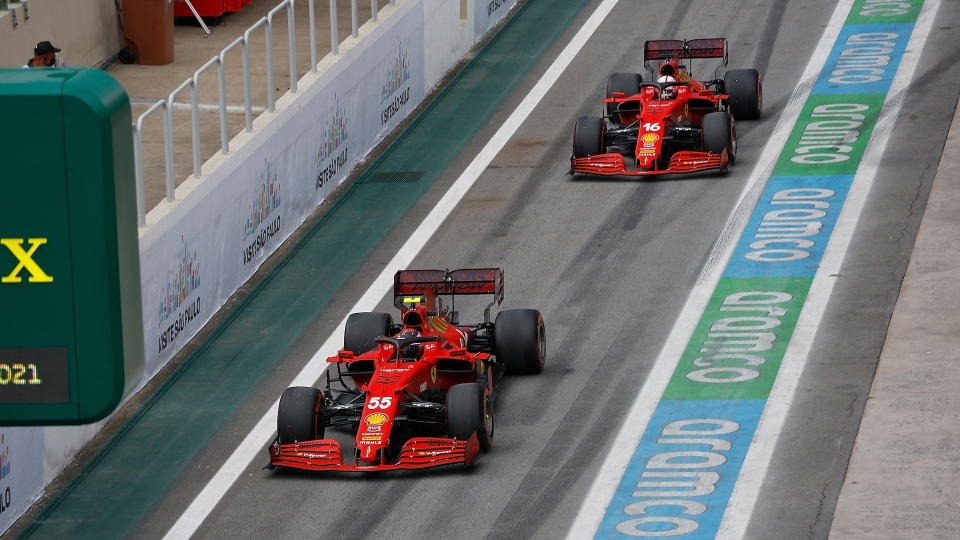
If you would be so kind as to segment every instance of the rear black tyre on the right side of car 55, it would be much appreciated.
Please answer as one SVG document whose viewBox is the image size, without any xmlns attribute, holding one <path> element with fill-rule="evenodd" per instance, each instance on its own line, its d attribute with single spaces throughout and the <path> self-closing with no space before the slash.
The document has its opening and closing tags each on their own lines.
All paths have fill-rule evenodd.
<svg viewBox="0 0 960 540">
<path fill-rule="evenodd" d="M 547 333 L 543 316 L 535 309 L 508 309 L 497 313 L 493 342 L 497 362 L 511 375 L 543 371 L 547 360 Z"/>
</svg>

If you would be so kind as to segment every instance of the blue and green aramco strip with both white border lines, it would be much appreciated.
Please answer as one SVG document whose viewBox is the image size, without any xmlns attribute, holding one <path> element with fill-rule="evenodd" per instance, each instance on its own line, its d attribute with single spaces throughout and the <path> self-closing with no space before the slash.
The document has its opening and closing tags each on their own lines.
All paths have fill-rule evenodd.
<svg viewBox="0 0 960 540">
<path fill-rule="evenodd" d="M 938 6 L 837 6 L 568 538 L 744 535 Z"/>
</svg>

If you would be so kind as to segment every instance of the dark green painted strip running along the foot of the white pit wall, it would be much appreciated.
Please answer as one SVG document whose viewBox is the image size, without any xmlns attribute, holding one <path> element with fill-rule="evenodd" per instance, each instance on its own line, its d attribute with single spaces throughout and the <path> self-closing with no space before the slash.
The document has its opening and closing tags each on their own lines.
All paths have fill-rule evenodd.
<svg viewBox="0 0 960 540">
<path fill-rule="evenodd" d="M 524 3 L 20 538 L 128 534 L 587 2 Z"/>
</svg>

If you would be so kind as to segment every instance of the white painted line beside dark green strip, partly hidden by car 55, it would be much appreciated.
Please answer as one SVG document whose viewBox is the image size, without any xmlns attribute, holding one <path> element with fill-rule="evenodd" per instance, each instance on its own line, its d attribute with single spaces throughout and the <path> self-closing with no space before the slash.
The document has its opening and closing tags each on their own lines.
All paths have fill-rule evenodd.
<svg viewBox="0 0 960 540">
<path fill-rule="evenodd" d="M 387 263 L 383 272 L 370 285 L 370 288 L 360 297 L 360 300 L 350 310 L 351 313 L 358 311 L 370 311 L 376 308 L 380 300 L 393 287 L 393 275 L 397 270 L 407 268 L 420 250 L 426 246 L 427 242 L 443 224 L 444 220 L 456 205 L 463 199 L 467 191 L 480 178 L 480 175 L 486 170 L 487 166 L 493 161 L 493 158 L 506 145 L 507 141 L 516 133 L 520 125 L 527 119 L 527 116 L 533 111 L 534 107 L 540 103 L 540 100 L 546 95 L 547 91 L 557 82 L 560 75 L 567 69 L 570 62 L 573 61 L 580 49 L 587 43 L 587 40 L 600 27 L 603 19 L 613 10 L 619 0 L 604 0 L 597 7 L 596 11 L 590 15 L 583 27 L 577 32 L 569 44 L 563 49 L 560 55 L 554 60 L 553 64 L 547 69 L 546 73 L 537 81 L 537 84 L 530 90 L 520 105 L 510 114 L 506 122 L 493 135 L 490 141 L 483 147 L 477 157 L 467 166 L 463 174 L 457 178 L 456 182 L 450 186 L 450 189 L 444 194 L 433 210 L 427 215 L 423 223 L 417 227 L 417 230 L 410 236 L 407 242 L 400 248 L 393 259 Z M 310 361 L 304 366 L 303 370 L 297 374 L 296 378 L 290 383 L 290 386 L 311 386 L 323 375 L 327 368 L 327 357 L 333 356 L 340 349 L 343 343 L 343 332 L 346 326 L 344 318 L 337 326 L 333 334 L 321 345 L 320 349 L 313 355 Z M 280 400 L 277 399 L 270 409 L 260 418 L 253 430 L 247 434 L 243 442 L 227 458 L 227 461 L 217 471 L 212 479 L 207 483 L 199 495 L 190 503 L 190 506 L 181 514 L 180 518 L 174 523 L 173 527 L 164 536 L 164 540 L 188 539 L 197 531 L 203 521 L 210 515 L 210 512 L 217 506 L 217 503 L 223 498 L 230 487 L 236 482 L 237 478 L 246 471 L 250 462 L 258 455 L 263 454 L 265 445 L 272 442 L 276 433 L 277 408 Z"/>
</svg>

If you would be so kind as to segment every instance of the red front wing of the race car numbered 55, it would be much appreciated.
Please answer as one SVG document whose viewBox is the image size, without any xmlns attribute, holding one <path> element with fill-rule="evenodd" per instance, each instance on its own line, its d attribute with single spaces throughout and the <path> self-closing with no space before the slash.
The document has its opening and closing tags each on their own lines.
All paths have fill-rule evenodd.
<svg viewBox="0 0 960 540">
<path fill-rule="evenodd" d="M 392 471 L 397 469 L 428 469 L 445 465 L 473 466 L 480 458 L 480 443 L 474 433 L 466 441 L 442 437 L 414 437 L 400 449 L 396 463 L 346 464 L 340 443 L 333 439 L 319 439 L 302 443 L 270 446 L 270 465 L 308 471 Z"/>
</svg>

